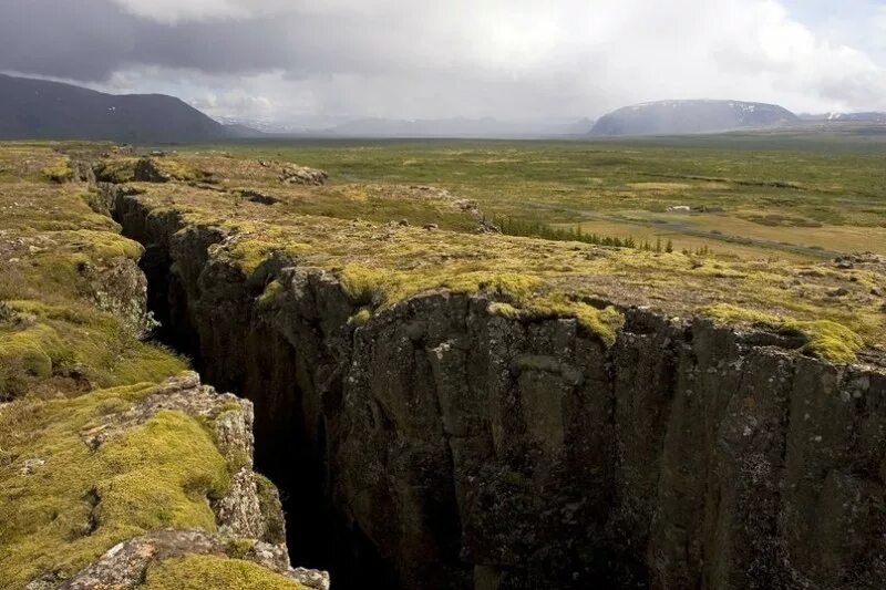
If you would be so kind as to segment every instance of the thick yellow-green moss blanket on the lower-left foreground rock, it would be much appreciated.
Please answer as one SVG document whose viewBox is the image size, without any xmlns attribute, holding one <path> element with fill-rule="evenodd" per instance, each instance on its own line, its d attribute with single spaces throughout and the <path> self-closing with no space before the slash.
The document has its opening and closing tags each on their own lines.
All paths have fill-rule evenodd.
<svg viewBox="0 0 886 590">
<path fill-rule="evenodd" d="M 20 400 L 0 412 L 0 587 L 73 575 L 121 540 L 162 527 L 215 530 L 207 497 L 228 469 L 194 418 L 164 411 L 92 452 L 80 433 L 154 391 L 131 385 L 71 400 Z M 32 474 L 21 462 L 45 463 Z"/>
</svg>

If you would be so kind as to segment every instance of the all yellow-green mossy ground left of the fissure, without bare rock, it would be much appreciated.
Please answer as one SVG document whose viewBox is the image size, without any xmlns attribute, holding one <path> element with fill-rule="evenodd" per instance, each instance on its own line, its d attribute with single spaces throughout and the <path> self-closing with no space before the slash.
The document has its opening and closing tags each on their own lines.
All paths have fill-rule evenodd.
<svg viewBox="0 0 886 590">
<path fill-rule="evenodd" d="M 142 247 L 66 182 L 60 147 L 0 147 L 0 588 L 63 579 L 159 527 L 213 530 L 207 497 L 234 468 L 181 413 L 97 451 L 81 437 L 186 363 L 99 309 L 95 271 L 134 269 Z"/>
</svg>

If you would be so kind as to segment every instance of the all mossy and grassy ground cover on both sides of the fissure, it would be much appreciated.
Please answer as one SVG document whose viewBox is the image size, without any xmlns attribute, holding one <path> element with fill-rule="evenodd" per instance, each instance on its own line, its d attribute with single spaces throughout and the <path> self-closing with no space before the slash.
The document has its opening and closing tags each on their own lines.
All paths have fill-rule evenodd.
<svg viewBox="0 0 886 590">
<path fill-rule="evenodd" d="M 772 151 L 743 137 L 733 149 L 676 139 L 267 142 L 162 156 L 0 146 L 0 586 L 64 579 L 157 528 L 212 531 L 206 499 L 240 467 L 177 412 L 99 452 L 84 444 L 82 432 L 187 362 L 146 339 L 152 319 L 132 301 L 144 286 L 125 277 L 143 248 L 121 236 L 78 163 L 126 184 L 178 231 L 222 232 L 213 256 L 262 287 L 258 304 L 284 291 L 275 267 L 327 271 L 359 309 L 356 330 L 450 291 L 484 293 L 490 313 L 519 321 L 575 318 L 605 345 L 625 309 L 648 306 L 786 334 L 799 354 L 835 363 L 882 360 L 883 156 L 845 138 L 834 156 L 804 137 L 776 137 Z M 288 182 L 292 163 L 330 179 Z M 698 213 L 668 214 L 674 205 Z M 874 253 L 833 261 L 855 250 Z M 231 556 L 167 560 L 145 586 L 200 579 L 296 587 Z"/>
</svg>

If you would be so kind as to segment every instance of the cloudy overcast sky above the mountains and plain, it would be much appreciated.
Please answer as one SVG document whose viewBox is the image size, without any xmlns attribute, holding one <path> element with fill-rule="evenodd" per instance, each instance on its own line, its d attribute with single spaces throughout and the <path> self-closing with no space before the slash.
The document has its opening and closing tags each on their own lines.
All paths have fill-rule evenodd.
<svg viewBox="0 0 886 590">
<path fill-rule="evenodd" d="M 886 1 L 0 0 L 0 71 L 291 121 L 886 110 Z"/>
</svg>

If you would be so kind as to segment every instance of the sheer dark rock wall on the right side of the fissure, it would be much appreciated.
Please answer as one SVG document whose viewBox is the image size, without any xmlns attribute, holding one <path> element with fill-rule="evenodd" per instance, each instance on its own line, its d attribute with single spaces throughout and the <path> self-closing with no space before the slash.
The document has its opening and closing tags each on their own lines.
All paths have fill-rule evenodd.
<svg viewBox="0 0 886 590">
<path fill-rule="evenodd" d="M 255 404 L 259 465 L 317 503 L 292 518 L 341 524 L 337 583 L 361 568 L 477 590 L 886 578 L 882 369 L 642 309 L 606 348 L 482 294 L 361 325 L 331 273 L 276 256 L 247 278 L 224 229 L 110 196 L 169 334 Z"/>
</svg>

